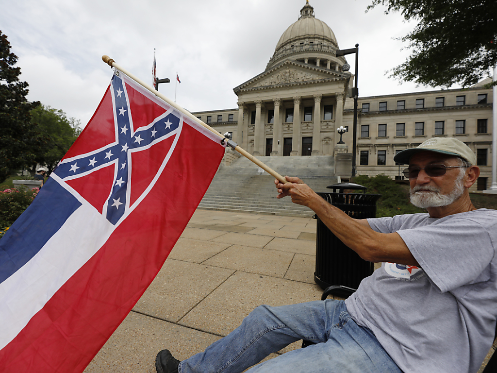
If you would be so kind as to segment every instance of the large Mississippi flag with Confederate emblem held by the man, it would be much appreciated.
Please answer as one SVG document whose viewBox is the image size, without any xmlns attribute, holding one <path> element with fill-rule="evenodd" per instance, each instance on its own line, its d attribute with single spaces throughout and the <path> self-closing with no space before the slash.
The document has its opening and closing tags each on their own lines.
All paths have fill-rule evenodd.
<svg viewBox="0 0 497 373">
<path fill-rule="evenodd" d="M 0 240 L 0 372 L 83 372 L 161 269 L 224 148 L 116 71 Z"/>
</svg>

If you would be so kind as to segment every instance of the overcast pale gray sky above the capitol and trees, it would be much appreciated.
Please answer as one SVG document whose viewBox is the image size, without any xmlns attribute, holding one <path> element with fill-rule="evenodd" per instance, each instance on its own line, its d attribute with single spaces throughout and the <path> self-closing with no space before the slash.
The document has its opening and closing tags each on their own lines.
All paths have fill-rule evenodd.
<svg viewBox="0 0 497 373">
<path fill-rule="evenodd" d="M 385 72 L 409 52 L 396 38 L 414 28 L 370 0 L 310 0 L 340 49 L 359 43 L 360 96 L 431 90 Z M 82 126 L 112 76 L 106 54 L 190 111 L 237 107 L 233 88 L 262 73 L 305 0 L 0 0 L 0 30 L 18 57 L 29 100 L 64 110 Z M 347 56 L 354 70 L 353 55 Z M 181 80 L 175 84 L 176 72 Z"/>
</svg>

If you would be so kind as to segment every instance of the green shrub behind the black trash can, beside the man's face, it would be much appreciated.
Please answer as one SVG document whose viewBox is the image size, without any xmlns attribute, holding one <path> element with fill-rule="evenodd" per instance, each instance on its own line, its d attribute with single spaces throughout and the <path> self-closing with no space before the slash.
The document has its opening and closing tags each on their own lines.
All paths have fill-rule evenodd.
<svg viewBox="0 0 497 373">
<path fill-rule="evenodd" d="M 370 178 L 361 175 L 355 177 L 353 182 L 367 187 L 366 193 L 382 195 L 376 204 L 376 217 L 426 212 L 411 204 L 408 187 L 397 184 L 388 176 L 376 175 Z"/>
</svg>

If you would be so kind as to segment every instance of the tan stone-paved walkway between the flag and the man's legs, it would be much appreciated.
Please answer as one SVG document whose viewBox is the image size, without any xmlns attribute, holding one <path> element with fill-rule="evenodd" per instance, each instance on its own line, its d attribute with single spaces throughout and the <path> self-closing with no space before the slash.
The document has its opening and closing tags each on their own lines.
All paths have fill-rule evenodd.
<svg viewBox="0 0 497 373">
<path fill-rule="evenodd" d="M 260 304 L 321 299 L 316 220 L 197 209 L 162 270 L 86 373 L 155 373 L 227 335 Z M 281 351 L 300 348 L 300 343 Z M 275 357 L 270 356 L 269 358 Z"/>
</svg>

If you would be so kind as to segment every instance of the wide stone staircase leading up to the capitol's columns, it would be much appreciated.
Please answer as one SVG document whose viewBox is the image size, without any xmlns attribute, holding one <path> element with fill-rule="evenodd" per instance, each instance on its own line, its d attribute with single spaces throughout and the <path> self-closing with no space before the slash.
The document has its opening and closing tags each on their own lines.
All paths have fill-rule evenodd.
<svg viewBox="0 0 497 373">
<path fill-rule="evenodd" d="M 282 176 L 298 176 L 315 191 L 337 183 L 333 175 L 333 157 L 257 157 Z M 314 212 L 292 203 L 289 197 L 276 198 L 274 178 L 260 175 L 258 167 L 245 157 L 219 167 L 200 208 L 223 211 L 257 212 L 286 216 L 312 216 Z"/>
</svg>

